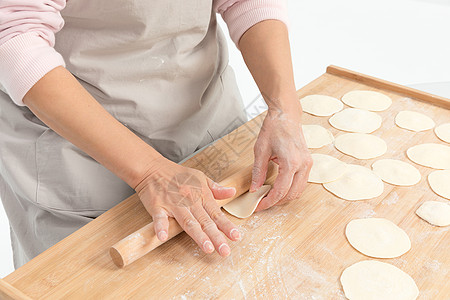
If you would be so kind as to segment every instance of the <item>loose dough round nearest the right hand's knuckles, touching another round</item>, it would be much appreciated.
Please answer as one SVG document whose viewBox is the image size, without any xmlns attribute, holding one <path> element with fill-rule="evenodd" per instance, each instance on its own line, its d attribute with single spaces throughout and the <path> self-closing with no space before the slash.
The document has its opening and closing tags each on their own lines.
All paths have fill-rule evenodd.
<svg viewBox="0 0 450 300">
<path fill-rule="evenodd" d="M 339 179 L 344 175 L 347 164 L 325 154 L 313 153 L 313 166 L 309 172 L 308 182 L 325 183 Z"/>
</svg>

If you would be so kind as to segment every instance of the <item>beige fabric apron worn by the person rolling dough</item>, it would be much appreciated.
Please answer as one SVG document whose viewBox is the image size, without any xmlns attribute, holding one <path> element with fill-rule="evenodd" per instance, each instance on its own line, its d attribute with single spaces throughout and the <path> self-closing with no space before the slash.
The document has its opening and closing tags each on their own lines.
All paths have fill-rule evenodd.
<svg viewBox="0 0 450 300">
<path fill-rule="evenodd" d="M 55 48 L 67 69 L 168 159 L 246 121 L 212 0 L 72 0 L 62 15 Z M 134 192 L 2 92 L 0 128 L 16 267 Z"/>
</svg>

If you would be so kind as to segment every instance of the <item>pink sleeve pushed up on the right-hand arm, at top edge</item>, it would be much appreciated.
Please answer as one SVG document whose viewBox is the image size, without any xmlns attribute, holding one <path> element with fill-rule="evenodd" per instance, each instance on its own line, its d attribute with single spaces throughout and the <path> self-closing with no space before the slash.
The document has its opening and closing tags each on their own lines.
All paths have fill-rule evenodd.
<svg viewBox="0 0 450 300">
<path fill-rule="evenodd" d="M 286 0 L 214 0 L 214 10 L 222 15 L 238 48 L 241 36 L 256 23 L 274 19 L 288 26 Z"/>
</svg>

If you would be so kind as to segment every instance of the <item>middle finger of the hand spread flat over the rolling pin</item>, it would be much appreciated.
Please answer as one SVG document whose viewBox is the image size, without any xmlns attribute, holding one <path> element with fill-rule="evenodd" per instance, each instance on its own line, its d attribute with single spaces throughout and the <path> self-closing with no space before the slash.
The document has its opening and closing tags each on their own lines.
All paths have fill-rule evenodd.
<svg viewBox="0 0 450 300">
<path fill-rule="evenodd" d="M 214 201 L 214 200 L 213 200 Z M 200 223 L 202 230 L 211 239 L 214 248 L 221 256 L 228 256 L 231 253 L 230 246 L 225 239 L 225 236 L 219 231 L 216 223 L 209 217 L 203 206 L 199 203 L 191 208 L 192 215 Z"/>
</svg>

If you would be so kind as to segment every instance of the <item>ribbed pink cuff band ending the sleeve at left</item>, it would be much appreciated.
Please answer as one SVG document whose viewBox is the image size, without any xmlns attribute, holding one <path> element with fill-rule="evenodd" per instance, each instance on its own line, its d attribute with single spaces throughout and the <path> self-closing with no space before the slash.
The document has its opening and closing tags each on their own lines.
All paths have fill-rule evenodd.
<svg viewBox="0 0 450 300">
<path fill-rule="evenodd" d="M 0 46 L 0 84 L 19 106 L 25 106 L 23 97 L 33 85 L 58 66 L 65 66 L 63 57 L 37 33 L 17 35 Z"/>
</svg>

